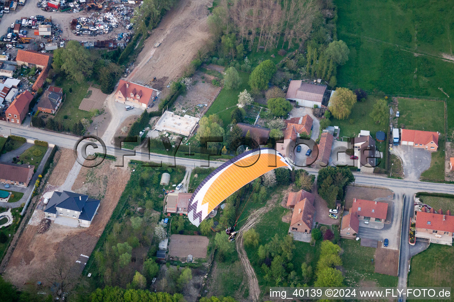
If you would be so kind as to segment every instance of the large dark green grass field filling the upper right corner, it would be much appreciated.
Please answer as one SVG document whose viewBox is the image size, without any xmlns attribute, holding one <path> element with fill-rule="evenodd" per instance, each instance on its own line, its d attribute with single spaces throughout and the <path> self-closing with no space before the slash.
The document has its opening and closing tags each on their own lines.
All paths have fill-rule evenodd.
<svg viewBox="0 0 454 302">
<path fill-rule="evenodd" d="M 452 8 L 441 1 L 336 0 L 337 35 L 350 48 L 338 86 L 387 94 L 446 98 L 454 95 Z M 434 18 L 434 16 L 437 16 Z M 415 55 L 417 53 L 418 55 Z M 454 101 L 448 98 L 448 116 Z M 449 119 L 448 119 L 449 120 Z M 449 133 L 454 119 L 449 121 Z"/>
</svg>

